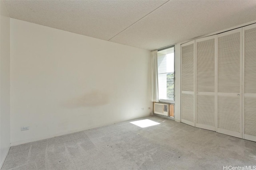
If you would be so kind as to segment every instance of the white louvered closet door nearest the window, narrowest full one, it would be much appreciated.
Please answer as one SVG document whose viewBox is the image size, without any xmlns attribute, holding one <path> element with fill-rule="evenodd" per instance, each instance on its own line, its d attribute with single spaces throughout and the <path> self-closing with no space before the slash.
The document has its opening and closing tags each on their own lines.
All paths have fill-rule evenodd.
<svg viewBox="0 0 256 170">
<path fill-rule="evenodd" d="M 181 45 L 181 122 L 195 126 L 194 115 L 195 41 Z"/>
</svg>

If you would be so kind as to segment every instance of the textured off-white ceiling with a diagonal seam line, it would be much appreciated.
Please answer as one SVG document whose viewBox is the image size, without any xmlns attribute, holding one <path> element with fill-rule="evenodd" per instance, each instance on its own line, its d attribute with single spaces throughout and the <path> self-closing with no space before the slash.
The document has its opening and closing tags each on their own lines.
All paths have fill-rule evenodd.
<svg viewBox="0 0 256 170">
<path fill-rule="evenodd" d="M 5 0 L 11 18 L 142 49 L 256 20 L 255 0 Z"/>
</svg>

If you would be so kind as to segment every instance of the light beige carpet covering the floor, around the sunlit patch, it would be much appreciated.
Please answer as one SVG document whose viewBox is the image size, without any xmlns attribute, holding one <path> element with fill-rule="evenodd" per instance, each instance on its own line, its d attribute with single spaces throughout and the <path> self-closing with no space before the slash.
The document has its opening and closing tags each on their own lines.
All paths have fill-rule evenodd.
<svg viewBox="0 0 256 170">
<path fill-rule="evenodd" d="M 168 119 L 142 119 L 160 124 L 142 128 L 125 121 L 11 147 L 2 170 L 223 170 L 256 165 L 255 142 Z"/>
</svg>

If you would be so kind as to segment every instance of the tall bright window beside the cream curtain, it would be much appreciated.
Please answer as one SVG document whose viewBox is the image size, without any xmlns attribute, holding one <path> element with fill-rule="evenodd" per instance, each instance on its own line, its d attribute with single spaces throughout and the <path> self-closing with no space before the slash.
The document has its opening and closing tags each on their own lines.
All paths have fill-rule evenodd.
<svg viewBox="0 0 256 170">
<path fill-rule="evenodd" d="M 174 46 L 159 50 L 157 55 L 159 101 L 174 103 Z"/>
</svg>

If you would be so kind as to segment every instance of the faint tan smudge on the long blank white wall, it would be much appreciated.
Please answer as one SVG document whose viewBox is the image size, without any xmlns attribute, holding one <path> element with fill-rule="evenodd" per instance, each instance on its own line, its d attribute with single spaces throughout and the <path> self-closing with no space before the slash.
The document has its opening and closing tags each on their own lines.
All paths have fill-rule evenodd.
<svg viewBox="0 0 256 170">
<path fill-rule="evenodd" d="M 99 91 L 92 91 L 78 98 L 73 98 L 64 103 L 65 107 L 93 107 L 103 106 L 109 103 L 109 97 L 107 94 Z"/>
</svg>

